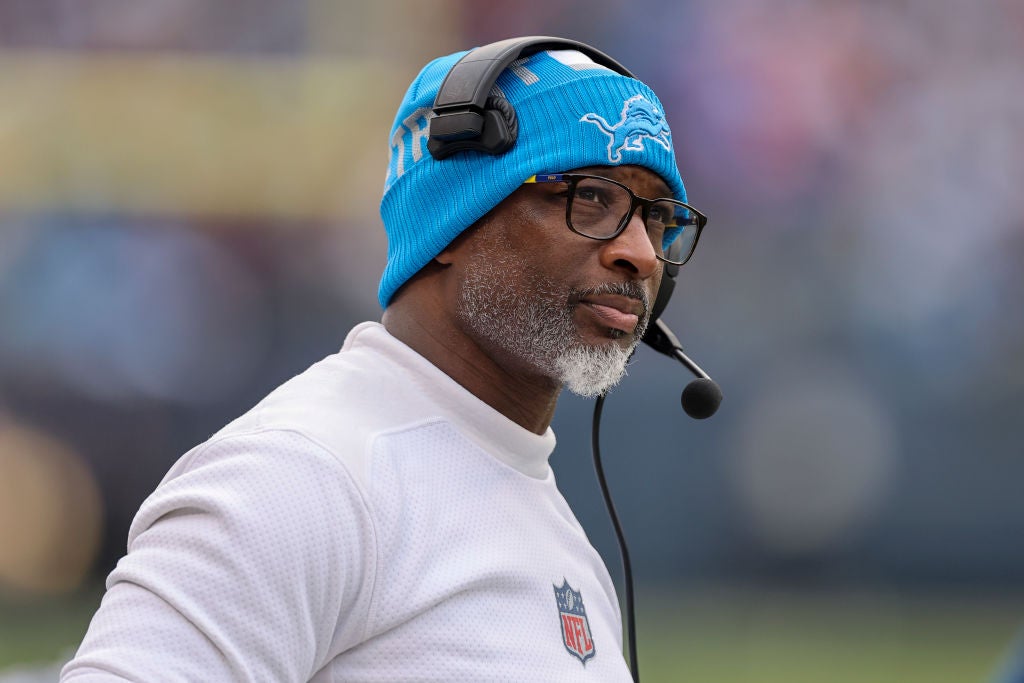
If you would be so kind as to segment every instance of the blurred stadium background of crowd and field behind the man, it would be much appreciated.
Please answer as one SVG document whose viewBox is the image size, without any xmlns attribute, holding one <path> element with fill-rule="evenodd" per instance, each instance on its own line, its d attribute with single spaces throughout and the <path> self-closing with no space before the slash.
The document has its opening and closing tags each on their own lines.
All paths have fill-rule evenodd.
<svg viewBox="0 0 1024 683">
<path fill-rule="evenodd" d="M 52 680 L 171 463 L 376 318 L 429 58 L 550 34 L 711 216 L 603 447 L 644 680 L 988 681 L 1024 624 L 1018 0 L 0 0 L 0 678 Z M 563 399 L 553 465 L 620 578 Z"/>
</svg>

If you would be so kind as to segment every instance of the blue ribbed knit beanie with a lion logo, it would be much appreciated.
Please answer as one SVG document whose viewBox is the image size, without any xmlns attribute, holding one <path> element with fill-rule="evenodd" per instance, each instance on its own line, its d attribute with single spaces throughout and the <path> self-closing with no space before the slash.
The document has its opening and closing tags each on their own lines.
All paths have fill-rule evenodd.
<svg viewBox="0 0 1024 683">
<path fill-rule="evenodd" d="M 534 174 L 634 164 L 657 173 L 675 199 L 686 201 L 657 96 L 640 81 L 574 50 L 538 52 L 512 62 L 498 78 L 498 94 L 511 102 L 519 120 L 511 150 L 435 160 L 427 152 L 427 120 L 441 81 L 465 54 L 424 67 L 391 127 L 381 201 L 388 236 L 378 291 L 384 307 L 420 268 Z"/>
</svg>

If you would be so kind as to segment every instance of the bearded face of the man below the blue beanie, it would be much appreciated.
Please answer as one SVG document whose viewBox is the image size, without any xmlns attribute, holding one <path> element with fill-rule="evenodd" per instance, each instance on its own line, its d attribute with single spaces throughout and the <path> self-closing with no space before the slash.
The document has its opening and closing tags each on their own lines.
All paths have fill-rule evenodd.
<svg viewBox="0 0 1024 683">
<path fill-rule="evenodd" d="M 641 197 L 671 196 L 636 166 L 577 172 L 625 183 Z M 565 223 L 566 185 L 520 187 L 459 249 L 457 323 L 499 365 L 595 396 L 625 374 L 662 279 L 639 211 L 622 234 L 591 240 Z"/>
</svg>

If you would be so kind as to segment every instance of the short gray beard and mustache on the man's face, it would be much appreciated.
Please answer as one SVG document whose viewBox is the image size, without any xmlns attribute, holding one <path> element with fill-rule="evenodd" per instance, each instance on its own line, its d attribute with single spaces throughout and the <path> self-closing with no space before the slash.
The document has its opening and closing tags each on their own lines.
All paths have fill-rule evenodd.
<svg viewBox="0 0 1024 683">
<path fill-rule="evenodd" d="M 564 287 L 559 290 L 521 261 L 489 258 L 478 259 L 473 265 L 460 291 L 457 314 L 477 337 L 579 396 L 603 394 L 626 375 L 630 356 L 646 328 L 646 315 L 641 316 L 633 342 L 626 347 L 612 339 L 605 344 L 586 344 L 577 333 Z M 516 291 L 516 282 L 529 286 L 528 299 Z M 581 295 L 597 292 L 637 296 L 647 307 L 646 292 L 636 283 L 569 294 L 575 301 Z"/>
</svg>

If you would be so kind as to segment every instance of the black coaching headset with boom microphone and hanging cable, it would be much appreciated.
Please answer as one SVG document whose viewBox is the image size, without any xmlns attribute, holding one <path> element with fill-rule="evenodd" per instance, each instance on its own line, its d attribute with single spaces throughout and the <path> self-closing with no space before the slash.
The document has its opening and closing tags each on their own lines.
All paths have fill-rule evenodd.
<svg viewBox="0 0 1024 683">
<path fill-rule="evenodd" d="M 441 81 L 437 95 L 434 97 L 433 116 L 428 124 L 427 150 L 430 155 L 441 161 L 461 152 L 501 155 L 511 150 L 519 133 L 515 109 L 504 97 L 492 94 L 492 90 L 498 77 L 509 65 L 516 59 L 545 50 L 578 50 L 602 67 L 623 76 L 636 78 L 630 70 L 604 52 L 575 40 L 551 36 L 526 36 L 482 45 L 467 52 L 449 70 L 444 80 Z M 681 248 L 682 245 L 677 241 L 670 246 L 670 255 L 672 255 L 673 249 L 678 254 Z M 722 401 L 722 390 L 708 377 L 707 373 L 686 356 L 679 340 L 659 319 L 662 312 L 669 304 L 669 299 L 672 298 L 678 273 L 678 265 L 664 264 L 662 284 L 654 297 L 654 303 L 651 305 L 650 318 L 643 341 L 659 353 L 676 358 L 697 377 L 683 391 L 682 403 L 683 410 L 688 415 L 703 419 L 711 417 L 718 410 L 718 405 Z M 622 552 L 626 584 L 630 672 L 633 675 L 633 680 L 638 682 L 640 674 L 636 648 L 633 572 L 626 538 L 611 502 L 604 469 L 601 466 L 598 436 L 603 405 L 604 396 L 598 396 L 594 407 L 592 434 L 594 469 Z"/>
</svg>

